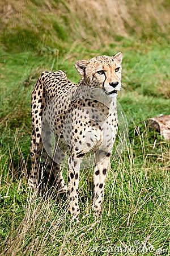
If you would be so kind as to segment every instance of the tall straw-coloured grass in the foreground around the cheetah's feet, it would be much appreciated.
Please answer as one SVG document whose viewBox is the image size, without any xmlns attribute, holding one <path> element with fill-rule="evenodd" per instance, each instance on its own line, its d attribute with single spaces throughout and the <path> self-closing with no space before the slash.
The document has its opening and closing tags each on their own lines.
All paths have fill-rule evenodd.
<svg viewBox="0 0 170 256">
<path fill-rule="evenodd" d="M 137 138 L 134 137 L 131 142 L 128 140 L 122 158 L 112 162 L 105 188 L 103 217 L 97 220 L 91 214 L 91 190 L 83 172 L 79 192 L 82 213 L 80 223 L 73 225 L 67 214 L 65 196 L 58 195 L 53 187 L 40 194 L 37 190 L 30 192 L 25 188 L 27 166 L 23 161 L 23 175 L 18 179 L 17 187 L 12 188 L 14 177 L 12 180 L 10 174 L 6 182 L 4 200 L 11 197 L 13 210 L 10 233 L 0 245 L 0 255 L 101 255 L 97 251 L 91 254 L 91 247 L 108 249 L 111 245 L 115 250 L 122 245 L 123 250 L 124 246 L 129 248 L 129 243 L 134 245 L 134 241 L 139 241 L 141 247 L 145 242 L 145 249 L 152 246 L 151 253 L 145 251 L 148 256 L 160 255 L 156 253 L 159 249 L 165 252 L 163 255 L 168 255 L 169 151 L 164 143 L 147 145 L 147 131 L 141 134 L 136 127 L 135 132 L 142 155 L 136 155 Z M 16 145 L 22 158 L 17 137 Z M 159 148 L 158 152 L 155 152 L 155 147 Z M 152 158 L 155 158 L 155 163 Z M 17 221 L 17 214 L 20 221 Z M 134 246 L 135 249 L 138 247 Z M 116 251 L 102 255 L 137 255 L 131 254 L 130 249 L 123 253 Z"/>
</svg>

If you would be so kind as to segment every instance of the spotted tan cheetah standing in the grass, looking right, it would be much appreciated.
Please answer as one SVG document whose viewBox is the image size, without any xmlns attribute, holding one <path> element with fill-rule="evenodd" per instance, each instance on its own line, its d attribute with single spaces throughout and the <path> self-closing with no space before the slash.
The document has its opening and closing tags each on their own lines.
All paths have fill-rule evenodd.
<svg viewBox="0 0 170 256">
<path fill-rule="evenodd" d="M 69 213 L 79 221 L 78 184 L 84 155 L 94 154 L 92 210 L 102 210 L 104 186 L 118 130 L 117 91 L 121 90 L 122 53 L 78 60 L 78 84 L 65 72 L 43 72 L 32 91 L 32 169 L 29 187 L 39 186 L 41 152 L 45 170 L 53 174 L 58 191 L 66 191 L 61 164 L 68 158 Z M 51 136 L 56 145 L 52 156 Z M 88 167 L 88 166 L 86 166 Z M 42 168 L 42 170 L 44 170 Z"/>
</svg>

